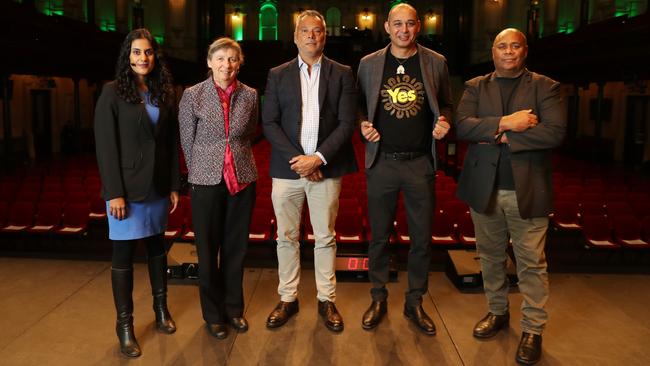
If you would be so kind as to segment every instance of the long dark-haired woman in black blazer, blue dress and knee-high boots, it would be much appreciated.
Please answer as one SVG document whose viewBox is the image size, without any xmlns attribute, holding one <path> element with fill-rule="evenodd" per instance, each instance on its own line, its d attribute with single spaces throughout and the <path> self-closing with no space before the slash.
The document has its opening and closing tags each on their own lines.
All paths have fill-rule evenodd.
<svg viewBox="0 0 650 366">
<path fill-rule="evenodd" d="M 164 230 L 176 209 L 180 187 L 178 121 L 171 75 L 158 43 L 146 29 L 126 36 L 115 81 L 107 83 L 95 110 L 95 145 L 113 240 L 111 282 L 121 352 L 138 357 L 133 330 L 133 253 L 147 247 L 156 327 L 173 333 L 167 309 Z"/>
</svg>

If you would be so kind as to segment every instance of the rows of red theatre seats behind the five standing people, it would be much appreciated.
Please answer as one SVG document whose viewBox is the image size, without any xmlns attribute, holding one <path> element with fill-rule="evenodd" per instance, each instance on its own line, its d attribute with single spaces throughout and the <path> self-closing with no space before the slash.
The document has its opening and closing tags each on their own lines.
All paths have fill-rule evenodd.
<svg viewBox="0 0 650 366">
<path fill-rule="evenodd" d="M 335 225 L 340 244 L 369 242 L 367 187 L 363 173 L 364 147 L 358 137 L 353 146 L 360 171 L 343 177 L 339 213 Z M 250 226 L 251 242 L 271 242 L 276 222 L 271 203 L 270 145 L 262 140 L 253 147 L 259 179 Z M 462 162 L 461 162 L 462 163 Z M 462 166 L 462 164 L 461 164 Z M 579 233 L 592 248 L 650 249 L 650 183 L 624 172 L 603 171 L 577 160 L 556 157 L 553 185 L 557 231 Z M 438 246 L 472 247 L 474 227 L 467 205 L 455 197 L 456 181 L 438 171 L 436 208 L 431 243 Z M 101 180 L 94 157 L 72 158 L 64 163 L 33 168 L 0 178 L 0 232 L 83 234 L 90 220 L 105 221 L 105 202 L 100 198 Z M 400 197 L 390 242 L 408 245 L 408 218 Z M 314 237 L 305 207 L 301 241 Z M 181 196 L 170 214 L 166 237 L 193 241 L 191 200 Z"/>
</svg>

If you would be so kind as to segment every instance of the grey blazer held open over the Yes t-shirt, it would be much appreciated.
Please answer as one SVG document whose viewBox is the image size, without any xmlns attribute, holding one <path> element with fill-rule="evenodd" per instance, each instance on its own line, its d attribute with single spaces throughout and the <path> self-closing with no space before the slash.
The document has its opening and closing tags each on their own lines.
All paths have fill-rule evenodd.
<svg viewBox="0 0 650 366">
<path fill-rule="evenodd" d="M 431 130 L 433 131 L 433 127 L 441 115 L 445 116 L 451 123 L 451 86 L 449 83 L 447 60 L 444 56 L 433 50 L 420 45 L 417 45 L 417 47 L 420 57 L 422 83 L 427 92 L 429 107 L 433 113 L 433 121 L 431 121 Z M 359 83 L 359 92 L 361 94 L 359 109 L 362 120 L 372 122 L 375 119 L 387 52 L 390 52 L 390 44 L 379 51 L 365 56 L 359 63 L 357 82 Z M 366 143 L 366 169 L 370 169 L 375 162 L 381 140 L 378 142 L 368 142 L 364 138 L 362 140 Z M 431 155 L 434 159 L 435 167 L 435 140 L 431 144 Z"/>
</svg>

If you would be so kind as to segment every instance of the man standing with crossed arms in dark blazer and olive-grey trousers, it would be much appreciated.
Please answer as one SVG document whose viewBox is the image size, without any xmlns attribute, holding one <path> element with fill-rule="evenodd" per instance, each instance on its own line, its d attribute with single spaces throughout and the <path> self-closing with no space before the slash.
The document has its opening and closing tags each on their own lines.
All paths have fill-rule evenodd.
<svg viewBox="0 0 650 366">
<path fill-rule="evenodd" d="M 512 240 L 524 298 L 516 360 L 534 364 L 547 320 L 551 149 L 562 142 L 566 121 L 559 83 L 528 71 L 527 51 L 523 33 L 503 30 L 492 46 L 495 71 L 465 84 L 456 127 L 470 146 L 457 195 L 471 207 L 489 308 L 474 336 L 492 337 L 508 324 L 505 263 Z"/>
</svg>

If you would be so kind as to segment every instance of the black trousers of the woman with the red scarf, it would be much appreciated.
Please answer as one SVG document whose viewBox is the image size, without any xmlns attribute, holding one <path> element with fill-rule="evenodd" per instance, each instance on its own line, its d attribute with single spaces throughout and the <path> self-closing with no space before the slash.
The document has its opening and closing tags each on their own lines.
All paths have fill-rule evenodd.
<svg viewBox="0 0 650 366">
<path fill-rule="evenodd" d="M 254 182 L 235 196 L 223 182 L 192 185 L 199 297 L 207 323 L 222 324 L 244 314 L 243 266 L 254 204 Z"/>
</svg>

